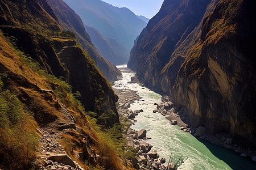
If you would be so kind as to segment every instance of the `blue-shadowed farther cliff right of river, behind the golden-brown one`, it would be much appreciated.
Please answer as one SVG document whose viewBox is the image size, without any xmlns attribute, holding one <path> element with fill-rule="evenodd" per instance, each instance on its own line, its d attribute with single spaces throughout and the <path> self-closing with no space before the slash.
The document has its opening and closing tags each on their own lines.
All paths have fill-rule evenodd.
<svg viewBox="0 0 256 170">
<path fill-rule="evenodd" d="M 159 74 L 177 46 L 199 25 L 210 1 L 164 1 L 131 50 L 128 67 L 147 86 L 160 88 Z M 177 63 L 183 62 L 179 58 Z M 179 68 L 175 68 L 179 70 Z"/>
</svg>

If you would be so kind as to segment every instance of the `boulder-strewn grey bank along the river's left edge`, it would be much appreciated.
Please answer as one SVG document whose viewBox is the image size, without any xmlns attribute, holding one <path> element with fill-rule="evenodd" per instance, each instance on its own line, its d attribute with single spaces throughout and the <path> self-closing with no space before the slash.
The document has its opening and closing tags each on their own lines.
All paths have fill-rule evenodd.
<svg viewBox="0 0 256 170">
<path fill-rule="evenodd" d="M 121 71 L 123 73 L 132 73 L 132 71 L 127 68 L 121 69 Z M 132 111 L 130 109 L 131 104 L 140 100 L 143 101 L 143 98 L 138 95 L 138 91 L 118 89 L 118 87 L 121 86 L 123 86 L 123 84 L 115 84 L 113 87 L 115 94 L 119 97 L 117 106 L 119 117 L 122 124 L 131 126 L 137 121 L 135 117 L 138 116 L 139 113 L 143 112 L 143 109 Z M 130 121 L 127 121 L 127 118 Z M 147 140 L 150 138 L 147 137 L 145 129 L 136 131 L 128 128 L 123 135 L 126 138 L 127 147 L 130 148 L 130 151 L 136 152 L 137 158 L 130 160 L 135 169 L 166 169 L 163 165 L 166 163 L 166 159 L 159 158 L 159 154 L 157 153 L 158 151 L 153 149 L 151 150 L 154 146 L 147 143 Z"/>
</svg>

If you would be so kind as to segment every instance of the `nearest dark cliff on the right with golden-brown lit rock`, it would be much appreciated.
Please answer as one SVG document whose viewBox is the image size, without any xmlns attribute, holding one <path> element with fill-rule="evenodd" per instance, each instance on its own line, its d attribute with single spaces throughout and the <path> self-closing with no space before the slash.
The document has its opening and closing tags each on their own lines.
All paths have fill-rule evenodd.
<svg viewBox="0 0 256 170">
<path fill-rule="evenodd" d="M 249 1 L 220 1 L 171 91 L 193 126 L 226 131 L 255 145 L 255 11 Z"/>
</svg>

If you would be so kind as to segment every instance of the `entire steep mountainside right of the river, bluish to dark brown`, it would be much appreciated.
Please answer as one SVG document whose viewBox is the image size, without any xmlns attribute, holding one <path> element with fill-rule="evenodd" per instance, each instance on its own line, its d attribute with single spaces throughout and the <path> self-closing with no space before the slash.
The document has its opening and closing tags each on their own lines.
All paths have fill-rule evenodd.
<svg viewBox="0 0 256 170">
<path fill-rule="evenodd" d="M 253 3 L 164 1 L 128 66 L 146 86 L 170 94 L 192 127 L 256 146 Z"/>
</svg>

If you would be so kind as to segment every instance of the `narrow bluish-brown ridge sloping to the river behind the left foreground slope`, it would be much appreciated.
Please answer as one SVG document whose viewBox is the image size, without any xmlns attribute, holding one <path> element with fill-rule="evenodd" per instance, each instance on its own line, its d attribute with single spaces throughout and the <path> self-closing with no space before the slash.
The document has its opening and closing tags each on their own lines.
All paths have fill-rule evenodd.
<svg viewBox="0 0 256 170">
<path fill-rule="evenodd" d="M 90 58 L 95 61 L 96 66 L 100 69 L 101 73 L 109 81 L 117 80 L 122 77 L 121 72 L 112 63 L 107 61 L 108 58 L 104 58 L 97 52 L 90 36 L 85 31 L 82 20 L 65 2 L 59 1 L 47 1 L 55 12 L 57 19 L 65 30 L 75 33 L 77 40 L 80 42 L 82 48 L 89 53 Z M 104 53 L 102 53 L 104 54 Z"/>
</svg>

